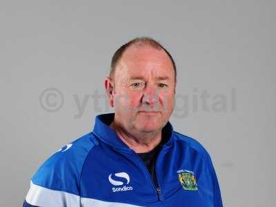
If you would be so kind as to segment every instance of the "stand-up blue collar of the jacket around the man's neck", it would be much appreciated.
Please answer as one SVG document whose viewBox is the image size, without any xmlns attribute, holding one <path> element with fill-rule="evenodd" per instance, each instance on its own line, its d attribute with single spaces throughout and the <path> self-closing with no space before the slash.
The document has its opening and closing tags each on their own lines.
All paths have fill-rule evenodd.
<svg viewBox="0 0 276 207">
<path fill-rule="evenodd" d="M 95 119 L 95 126 L 93 133 L 101 139 L 101 141 L 109 144 L 112 147 L 121 150 L 131 150 L 123 141 L 117 136 L 116 132 L 110 128 L 110 124 L 114 120 L 114 113 L 97 115 Z M 162 129 L 162 146 L 170 146 L 172 144 L 173 128 L 168 121 L 166 126 Z"/>
</svg>

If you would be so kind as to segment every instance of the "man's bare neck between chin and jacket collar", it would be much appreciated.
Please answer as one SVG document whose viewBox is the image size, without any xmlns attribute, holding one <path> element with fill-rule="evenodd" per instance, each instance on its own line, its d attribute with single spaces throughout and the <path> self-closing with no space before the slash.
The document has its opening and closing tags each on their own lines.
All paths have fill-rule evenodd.
<svg viewBox="0 0 276 207">
<path fill-rule="evenodd" d="M 149 152 L 161 142 L 161 130 L 158 132 L 128 132 L 119 126 L 115 121 L 110 124 L 121 141 L 134 150 L 136 153 Z"/>
</svg>

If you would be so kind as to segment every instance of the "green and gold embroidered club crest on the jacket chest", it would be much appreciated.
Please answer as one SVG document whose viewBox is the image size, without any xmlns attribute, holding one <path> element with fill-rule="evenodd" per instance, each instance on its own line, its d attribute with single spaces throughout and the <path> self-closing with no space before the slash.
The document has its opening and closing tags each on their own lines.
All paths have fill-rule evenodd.
<svg viewBox="0 0 276 207">
<path fill-rule="evenodd" d="M 194 172 L 189 170 L 178 170 L 177 174 L 179 182 L 185 190 L 198 190 L 197 179 L 195 178 Z"/>
</svg>

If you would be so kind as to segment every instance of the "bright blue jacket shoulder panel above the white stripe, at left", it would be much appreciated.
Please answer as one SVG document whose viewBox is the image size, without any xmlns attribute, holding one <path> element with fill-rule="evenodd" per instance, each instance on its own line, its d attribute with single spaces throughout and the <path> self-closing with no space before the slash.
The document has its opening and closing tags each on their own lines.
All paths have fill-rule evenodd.
<svg viewBox="0 0 276 207">
<path fill-rule="evenodd" d="M 97 139 L 92 133 L 66 144 L 39 167 L 32 184 L 77 195 L 83 163 L 96 145 Z"/>
</svg>

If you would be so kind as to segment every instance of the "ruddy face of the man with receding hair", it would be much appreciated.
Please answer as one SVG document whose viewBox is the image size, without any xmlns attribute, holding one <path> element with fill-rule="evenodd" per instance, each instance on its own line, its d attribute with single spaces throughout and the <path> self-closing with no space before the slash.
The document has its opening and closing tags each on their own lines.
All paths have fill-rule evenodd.
<svg viewBox="0 0 276 207">
<path fill-rule="evenodd" d="M 117 65 L 114 81 L 119 124 L 139 132 L 164 127 L 175 101 L 175 72 L 164 50 L 130 46 Z"/>
</svg>

